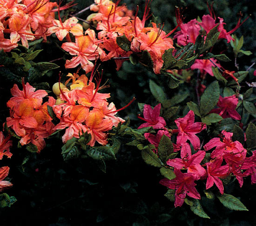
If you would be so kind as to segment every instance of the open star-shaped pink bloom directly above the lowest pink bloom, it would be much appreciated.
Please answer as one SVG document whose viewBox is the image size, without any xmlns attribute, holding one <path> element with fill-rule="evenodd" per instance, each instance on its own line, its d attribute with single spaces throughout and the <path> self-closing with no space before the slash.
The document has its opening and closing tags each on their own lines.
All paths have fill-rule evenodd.
<svg viewBox="0 0 256 226">
<path fill-rule="evenodd" d="M 191 154 L 191 148 L 188 143 L 182 145 L 181 159 L 175 158 L 167 161 L 167 165 L 175 167 L 175 169 L 188 169 L 188 173 L 195 173 L 199 177 L 205 175 L 205 169 L 200 165 L 205 156 L 205 151 L 198 151 Z"/>
</svg>

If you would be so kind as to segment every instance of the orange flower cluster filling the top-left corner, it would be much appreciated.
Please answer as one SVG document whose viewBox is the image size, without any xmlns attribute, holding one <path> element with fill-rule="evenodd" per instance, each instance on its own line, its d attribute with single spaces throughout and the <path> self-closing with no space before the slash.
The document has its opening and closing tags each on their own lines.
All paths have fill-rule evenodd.
<svg viewBox="0 0 256 226">
<path fill-rule="evenodd" d="M 59 10 L 67 9 L 72 3 Z M 50 0 L 0 0 L 0 49 L 10 52 L 21 40 L 28 47 L 28 40 L 41 37 L 53 26 L 56 2 Z M 6 38 L 9 34 L 9 38 Z M 49 35 L 49 34 L 48 34 Z"/>
</svg>

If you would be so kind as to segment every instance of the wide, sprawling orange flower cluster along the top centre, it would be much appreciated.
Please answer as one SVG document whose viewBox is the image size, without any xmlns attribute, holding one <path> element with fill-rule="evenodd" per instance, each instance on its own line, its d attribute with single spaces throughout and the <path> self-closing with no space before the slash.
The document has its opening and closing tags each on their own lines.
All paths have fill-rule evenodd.
<svg viewBox="0 0 256 226">
<path fill-rule="evenodd" d="M 162 55 L 165 50 L 173 47 L 173 40 L 168 36 L 182 23 L 177 21 L 178 26 L 166 34 L 163 26 L 152 23 L 153 27 L 145 27 L 149 15 L 149 3 L 146 1 L 146 7 L 142 20 L 137 17 L 138 9 L 133 16 L 131 10 L 125 5 L 118 6 L 111 0 L 95 0 L 90 6 L 94 12 L 88 18 L 89 21 L 96 21 L 98 30 L 97 38 L 94 30 L 88 28 L 83 33 L 81 25 L 72 17 L 62 23 L 61 18 L 54 20 L 54 26 L 50 27 L 47 34 L 56 33 L 59 40 L 66 37 L 68 42 L 62 44 L 62 48 L 74 57 L 66 61 L 66 68 L 74 68 L 78 65 L 89 73 L 93 70 L 94 64 L 91 60 L 100 58 L 101 61 L 114 58 L 117 70 L 120 69 L 124 60 L 127 60 L 131 53 L 140 53 L 147 50 L 153 60 L 154 72 L 159 74 L 163 65 Z M 75 43 L 71 41 L 69 33 L 75 36 Z M 118 36 L 125 35 L 131 42 L 131 51 L 121 49 L 116 42 Z M 106 51 L 106 52 L 105 52 Z"/>
</svg>

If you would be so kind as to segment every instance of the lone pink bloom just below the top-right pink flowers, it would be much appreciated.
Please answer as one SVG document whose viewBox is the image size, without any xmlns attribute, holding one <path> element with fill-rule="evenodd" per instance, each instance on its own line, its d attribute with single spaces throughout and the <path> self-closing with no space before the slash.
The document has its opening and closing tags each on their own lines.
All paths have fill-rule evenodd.
<svg viewBox="0 0 256 226">
<path fill-rule="evenodd" d="M 202 77 L 205 76 L 207 73 L 211 76 L 214 76 L 214 74 L 212 73 L 212 66 L 221 67 L 221 65 L 217 63 L 217 60 L 215 60 L 214 58 L 211 58 L 210 60 L 195 60 L 195 63 L 190 68 L 192 70 L 199 69 Z"/>
</svg>

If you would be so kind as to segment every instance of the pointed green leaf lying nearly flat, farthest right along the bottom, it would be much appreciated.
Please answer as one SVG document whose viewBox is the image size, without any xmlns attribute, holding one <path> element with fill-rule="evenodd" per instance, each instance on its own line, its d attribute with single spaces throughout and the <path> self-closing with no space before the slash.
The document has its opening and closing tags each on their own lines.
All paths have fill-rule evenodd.
<svg viewBox="0 0 256 226">
<path fill-rule="evenodd" d="M 217 198 L 220 200 L 223 206 L 229 208 L 230 210 L 248 211 L 243 203 L 233 195 L 223 193 L 222 195 L 217 195 Z"/>
</svg>

